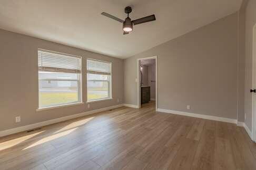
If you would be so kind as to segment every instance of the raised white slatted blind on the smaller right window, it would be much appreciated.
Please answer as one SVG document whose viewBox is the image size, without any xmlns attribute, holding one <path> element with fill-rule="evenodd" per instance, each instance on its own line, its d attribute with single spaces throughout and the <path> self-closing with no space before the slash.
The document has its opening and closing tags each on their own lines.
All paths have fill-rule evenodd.
<svg viewBox="0 0 256 170">
<path fill-rule="evenodd" d="M 87 73 L 111 75 L 111 62 L 87 59 Z"/>
</svg>

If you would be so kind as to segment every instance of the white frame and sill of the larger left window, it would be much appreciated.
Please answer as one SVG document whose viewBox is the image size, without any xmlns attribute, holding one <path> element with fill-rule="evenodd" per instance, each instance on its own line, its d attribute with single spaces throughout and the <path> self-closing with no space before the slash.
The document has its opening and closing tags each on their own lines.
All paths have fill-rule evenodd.
<svg viewBox="0 0 256 170">
<path fill-rule="evenodd" d="M 65 55 L 65 56 L 73 56 L 76 58 L 80 58 L 80 69 L 81 72 L 77 73 L 77 80 L 76 79 L 40 79 L 39 75 L 38 75 L 38 109 L 36 111 L 41 111 L 41 110 L 47 110 L 47 109 L 54 109 L 54 108 L 61 108 L 61 107 L 68 107 L 68 106 L 72 106 L 72 105 L 78 105 L 78 104 L 84 104 L 83 102 L 83 97 L 82 97 L 82 57 L 80 56 L 74 56 L 74 55 L 70 55 L 70 54 L 65 54 L 62 52 L 56 52 L 56 51 L 50 51 L 50 50 L 44 50 L 44 49 L 39 49 L 37 51 L 46 51 L 49 53 L 53 53 L 53 54 L 58 54 L 58 55 Z M 38 56 L 37 56 L 38 57 Z M 40 71 L 38 70 L 38 73 Z M 44 72 L 44 71 L 42 71 Z M 47 71 L 45 71 L 47 72 Z M 45 81 L 77 81 L 77 101 L 74 102 L 70 102 L 70 103 L 63 103 L 63 104 L 53 104 L 53 105 L 47 105 L 45 107 L 40 107 L 39 105 L 39 100 L 40 100 L 40 96 L 39 96 L 39 82 L 40 80 L 45 80 Z"/>
</svg>

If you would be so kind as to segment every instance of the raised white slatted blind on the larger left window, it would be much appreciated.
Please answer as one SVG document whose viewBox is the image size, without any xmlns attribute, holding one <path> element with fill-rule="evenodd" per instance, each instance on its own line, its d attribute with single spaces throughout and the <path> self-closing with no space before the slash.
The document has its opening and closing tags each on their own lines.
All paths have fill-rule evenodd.
<svg viewBox="0 0 256 170">
<path fill-rule="evenodd" d="M 80 73 L 80 61 L 80 57 L 38 50 L 38 71 Z"/>
</svg>

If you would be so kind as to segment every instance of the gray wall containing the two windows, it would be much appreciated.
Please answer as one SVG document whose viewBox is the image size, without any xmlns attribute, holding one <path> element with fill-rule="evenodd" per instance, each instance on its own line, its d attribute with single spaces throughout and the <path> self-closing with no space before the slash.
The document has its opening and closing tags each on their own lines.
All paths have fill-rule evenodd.
<svg viewBox="0 0 256 170">
<path fill-rule="evenodd" d="M 0 37 L 0 131 L 123 103 L 122 59 L 1 29 Z M 82 56 L 82 94 L 84 102 L 86 102 L 87 95 L 86 58 L 90 57 L 112 62 L 112 94 L 114 99 L 91 103 L 90 109 L 87 109 L 87 105 L 83 104 L 36 112 L 38 108 L 37 48 Z M 117 98 L 120 99 L 119 103 L 117 103 Z M 21 116 L 21 122 L 15 123 L 15 116 L 18 115 Z"/>
</svg>

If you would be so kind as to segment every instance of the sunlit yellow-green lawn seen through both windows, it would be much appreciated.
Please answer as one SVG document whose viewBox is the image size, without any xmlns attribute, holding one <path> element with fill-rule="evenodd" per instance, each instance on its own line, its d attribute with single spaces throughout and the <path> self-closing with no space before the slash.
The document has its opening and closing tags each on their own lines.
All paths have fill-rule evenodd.
<svg viewBox="0 0 256 170">
<path fill-rule="evenodd" d="M 39 105 L 41 107 L 46 107 L 49 105 L 58 105 L 71 103 L 78 100 L 77 93 L 71 92 L 62 92 L 62 93 L 54 93 L 54 92 L 40 92 L 39 93 Z M 88 94 L 88 99 L 95 100 L 99 98 L 105 98 L 106 96 L 103 94 Z"/>
</svg>

